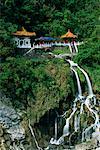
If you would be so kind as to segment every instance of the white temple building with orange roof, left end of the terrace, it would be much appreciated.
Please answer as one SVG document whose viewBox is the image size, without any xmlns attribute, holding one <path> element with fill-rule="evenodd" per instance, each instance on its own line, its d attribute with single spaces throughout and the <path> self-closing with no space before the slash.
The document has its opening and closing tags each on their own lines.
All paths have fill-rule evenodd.
<svg viewBox="0 0 100 150">
<path fill-rule="evenodd" d="M 35 32 L 28 32 L 24 27 L 22 27 L 21 31 L 12 34 L 14 35 L 14 42 L 17 48 L 31 48 L 31 37 L 36 36 Z"/>
</svg>

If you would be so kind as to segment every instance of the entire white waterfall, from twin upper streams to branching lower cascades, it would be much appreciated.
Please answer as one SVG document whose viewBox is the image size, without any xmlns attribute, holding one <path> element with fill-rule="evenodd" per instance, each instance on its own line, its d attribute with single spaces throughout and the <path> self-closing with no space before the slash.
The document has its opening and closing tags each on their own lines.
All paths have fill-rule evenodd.
<svg viewBox="0 0 100 150">
<path fill-rule="evenodd" d="M 81 117 L 81 114 L 84 113 L 84 107 L 85 106 L 87 108 L 87 110 L 91 113 L 93 119 L 94 120 L 94 123 L 92 123 L 90 126 L 88 127 L 82 127 L 81 129 L 81 141 L 83 142 L 85 139 L 88 139 L 91 137 L 92 135 L 92 132 L 91 132 L 91 129 L 93 130 L 99 130 L 100 128 L 100 124 L 99 124 L 99 115 L 98 115 L 98 112 L 94 109 L 92 109 L 92 105 L 91 105 L 91 99 L 94 100 L 94 105 L 96 104 L 96 98 L 93 94 L 93 90 L 92 90 L 92 85 L 91 85 L 91 82 L 90 82 L 90 79 L 88 77 L 88 74 L 78 66 L 78 64 L 74 63 L 73 61 L 71 60 L 67 60 L 67 62 L 70 63 L 70 68 L 71 70 L 74 72 L 75 74 L 75 77 L 76 77 L 76 81 L 77 81 L 77 86 L 78 86 L 78 97 L 75 98 L 74 100 L 74 103 L 73 103 L 73 108 L 72 108 L 72 113 L 70 114 L 70 116 L 68 118 L 66 118 L 66 114 L 67 114 L 67 111 L 61 115 L 60 117 L 63 117 L 65 120 L 66 120 L 66 124 L 65 126 L 63 127 L 63 134 L 62 136 L 57 140 L 57 120 L 55 120 L 55 139 L 54 138 L 51 138 L 50 140 L 50 144 L 54 144 L 54 145 L 60 145 L 60 144 L 63 144 L 64 143 L 64 137 L 68 136 L 69 137 L 69 140 L 71 140 L 72 138 L 72 135 L 75 134 L 75 132 L 79 132 L 80 131 L 80 117 Z M 88 96 L 85 98 L 83 95 L 82 95 L 82 89 L 81 89 L 81 84 L 80 84 L 80 79 L 79 79 L 79 76 L 78 76 L 78 73 L 76 71 L 76 68 L 79 69 L 85 76 L 85 79 L 87 81 L 87 85 L 88 85 Z M 79 106 L 77 106 L 77 102 L 80 103 L 80 109 L 79 109 Z M 76 113 L 77 112 L 77 113 Z M 70 131 L 70 120 L 72 119 L 72 117 L 74 118 L 74 123 L 73 123 L 73 126 L 74 126 L 74 131 Z"/>
</svg>

